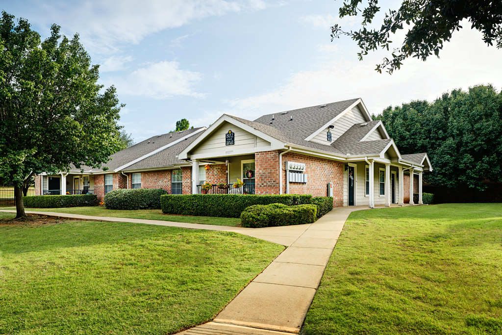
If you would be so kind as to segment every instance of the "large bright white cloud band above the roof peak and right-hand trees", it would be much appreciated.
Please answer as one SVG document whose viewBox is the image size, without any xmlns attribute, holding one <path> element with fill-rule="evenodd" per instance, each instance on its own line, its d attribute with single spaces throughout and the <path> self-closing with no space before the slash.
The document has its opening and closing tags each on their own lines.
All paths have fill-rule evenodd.
<svg viewBox="0 0 502 335">
<path fill-rule="evenodd" d="M 464 25 L 468 26 L 468 25 Z M 476 84 L 492 83 L 502 87 L 502 67 L 495 63 L 500 50 L 487 47 L 481 34 L 469 29 L 454 34 L 445 44 L 441 59 L 426 62 L 407 59 L 400 70 L 389 75 L 374 71 L 382 53 L 367 55 L 359 62 L 355 51 L 352 60 L 331 58 L 315 70 L 294 73 L 287 83 L 256 96 L 231 99 L 225 111 L 207 112 L 201 121 L 228 113 L 248 120 L 282 110 L 361 97 L 370 113 L 381 113 L 389 105 L 415 99 L 439 97 L 453 88 L 467 89 Z M 347 59 L 347 56 L 344 56 Z"/>
</svg>

